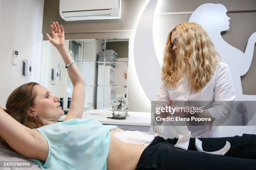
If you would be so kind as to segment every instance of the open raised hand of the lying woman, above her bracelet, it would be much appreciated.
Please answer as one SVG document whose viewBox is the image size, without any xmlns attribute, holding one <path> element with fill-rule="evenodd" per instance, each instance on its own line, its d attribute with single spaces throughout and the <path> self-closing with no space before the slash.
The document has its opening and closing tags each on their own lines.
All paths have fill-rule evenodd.
<svg viewBox="0 0 256 170">
<path fill-rule="evenodd" d="M 55 47 L 61 47 L 65 45 L 64 28 L 59 25 L 58 22 L 52 22 L 51 24 L 52 37 L 49 34 L 45 34 L 48 40 Z"/>
</svg>

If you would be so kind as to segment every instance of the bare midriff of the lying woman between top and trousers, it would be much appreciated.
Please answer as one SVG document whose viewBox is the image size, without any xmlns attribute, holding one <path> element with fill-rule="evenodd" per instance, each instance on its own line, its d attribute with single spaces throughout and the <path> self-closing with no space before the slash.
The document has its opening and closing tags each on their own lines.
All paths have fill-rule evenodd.
<svg viewBox="0 0 256 170">
<path fill-rule="evenodd" d="M 124 143 L 113 135 L 122 129 L 110 130 L 110 148 L 107 159 L 108 170 L 135 170 L 141 153 L 146 148 L 140 144 Z"/>
</svg>

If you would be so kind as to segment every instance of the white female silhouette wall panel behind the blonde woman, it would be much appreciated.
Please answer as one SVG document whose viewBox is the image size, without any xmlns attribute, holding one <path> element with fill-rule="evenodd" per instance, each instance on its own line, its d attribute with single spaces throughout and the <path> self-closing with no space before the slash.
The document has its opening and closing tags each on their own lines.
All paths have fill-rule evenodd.
<svg viewBox="0 0 256 170">
<path fill-rule="evenodd" d="M 256 100 L 256 95 L 243 95 L 240 77 L 246 74 L 251 65 L 256 32 L 249 38 L 245 52 L 228 44 L 220 34 L 220 32 L 230 28 L 230 18 L 226 15 L 227 11 L 222 4 L 202 4 L 192 13 L 189 22 L 202 25 L 210 35 L 221 60 L 228 64 L 236 90 L 236 100 Z"/>
</svg>

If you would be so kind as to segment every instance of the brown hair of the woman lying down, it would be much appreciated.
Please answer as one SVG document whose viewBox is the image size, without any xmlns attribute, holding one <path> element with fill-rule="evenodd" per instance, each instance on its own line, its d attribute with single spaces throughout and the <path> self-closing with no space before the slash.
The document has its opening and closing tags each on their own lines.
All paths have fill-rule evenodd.
<svg viewBox="0 0 256 170">
<path fill-rule="evenodd" d="M 33 90 L 35 85 L 39 84 L 36 82 L 29 82 L 17 87 L 9 95 L 5 105 L 5 112 L 21 124 L 31 129 L 39 128 L 34 117 L 28 116 L 28 110 L 31 106 L 34 106 L 34 100 L 36 98 L 36 92 Z M 5 143 L 2 137 L 0 139 Z"/>
</svg>

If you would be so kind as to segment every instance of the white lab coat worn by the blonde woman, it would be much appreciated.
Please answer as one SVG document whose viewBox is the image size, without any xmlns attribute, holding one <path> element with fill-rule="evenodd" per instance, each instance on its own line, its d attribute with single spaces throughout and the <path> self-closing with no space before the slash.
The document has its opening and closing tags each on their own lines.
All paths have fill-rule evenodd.
<svg viewBox="0 0 256 170">
<path fill-rule="evenodd" d="M 235 89 L 228 65 L 220 62 L 210 82 L 208 82 L 200 92 L 195 92 L 191 85 L 189 85 L 188 80 L 184 77 L 179 80 L 176 87 L 168 88 L 161 82 L 155 100 L 169 100 L 169 98 L 172 98 L 174 101 L 210 101 L 212 102 L 212 107 L 207 110 L 212 117 L 215 117 L 215 121 L 222 120 L 228 115 L 225 115 L 225 112 L 223 112 L 223 109 L 226 108 L 222 107 L 217 101 L 235 100 Z M 159 128 L 161 128 L 160 133 L 164 138 L 179 137 L 179 133 L 174 126 L 166 125 Z M 191 131 L 192 137 L 218 137 L 217 126 L 190 126 L 188 128 L 189 131 Z"/>
</svg>

